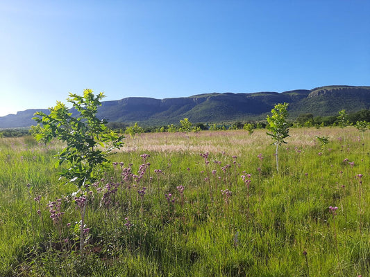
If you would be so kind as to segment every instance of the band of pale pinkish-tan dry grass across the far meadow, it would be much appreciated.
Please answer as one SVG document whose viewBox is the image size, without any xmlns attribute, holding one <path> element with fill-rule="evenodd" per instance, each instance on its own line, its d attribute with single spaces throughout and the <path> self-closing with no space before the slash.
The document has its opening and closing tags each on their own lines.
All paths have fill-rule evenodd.
<svg viewBox="0 0 370 277">
<path fill-rule="evenodd" d="M 199 133 L 146 133 L 131 138 L 127 136 L 124 147 L 120 152 L 228 152 L 242 154 L 248 151 L 258 152 L 271 143 L 265 129 L 256 129 L 249 135 L 244 130 L 233 131 L 203 131 Z M 290 129 L 290 136 L 286 139 L 289 147 L 310 147 L 318 144 L 316 136 L 328 136 L 329 141 L 339 136 L 356 139 L 353 134 L 359 134 L 354 127 L 344 129 L 323 127 Z M 360 134 L 359 134 L 360 136 Z"/>
</svg>

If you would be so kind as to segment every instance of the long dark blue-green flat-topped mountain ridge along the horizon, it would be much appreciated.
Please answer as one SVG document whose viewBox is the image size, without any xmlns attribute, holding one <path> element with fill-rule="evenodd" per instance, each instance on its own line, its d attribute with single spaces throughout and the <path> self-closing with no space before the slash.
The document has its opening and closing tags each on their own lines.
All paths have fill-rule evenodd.
<svg viewBox="0 0 370 277">
<path fill-rule="evenodd" d="M 330 116 L 346 109 L 348 113 L 370 109 L 370 87 L 328 86 L 311 90 L 257 92 L 257 93 L 207 93 L 184 98 L 129 97 L 102 102 L 98 117 L 111 122 L 139 123 L 141 125 L 167 125 L 189 118 L 193 123 L 217 123 L 231 120 L 265 119 L 280 102 L 289 103 L 289 116 L 311 113 Z M 35 125 L 31 119 L 35 111 L 27 109 L 17 114 L 0 117 L 0 128 Z"/>
</svg>

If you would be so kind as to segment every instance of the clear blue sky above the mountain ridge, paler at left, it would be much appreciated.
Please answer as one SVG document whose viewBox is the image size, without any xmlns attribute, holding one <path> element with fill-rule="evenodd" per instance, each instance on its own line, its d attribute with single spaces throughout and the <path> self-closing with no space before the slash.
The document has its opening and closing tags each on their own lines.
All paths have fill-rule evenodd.
<svg viewBox="0 0 370 277">
<path fill-rule="evenodd" d="M 0 2 L 0 116 L 106 100 L 370 85 L 368 0 Z"/>
</svg>

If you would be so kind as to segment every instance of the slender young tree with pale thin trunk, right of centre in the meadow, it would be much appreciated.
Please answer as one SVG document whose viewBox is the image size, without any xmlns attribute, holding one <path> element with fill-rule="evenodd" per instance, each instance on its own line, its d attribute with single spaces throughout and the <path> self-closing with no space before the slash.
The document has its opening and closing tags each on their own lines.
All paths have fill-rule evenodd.
<svg viewBox="0 0 370 277">
<path fill-rule="evenodd" d="M 289 136 L 289 123 L 287 123 L 287 108 L 288 103 L 275 105 L 274 109 L 271 109 L 271 116 L 267 116 L 267 129 L 270 131 L 267 133 L 273 139 L 273 144 L 276 145 L 276 171 L 279 172 L 278 163 L 278 148 L 282 143 L 287 143 L 284 139 Z"/>
</svg>

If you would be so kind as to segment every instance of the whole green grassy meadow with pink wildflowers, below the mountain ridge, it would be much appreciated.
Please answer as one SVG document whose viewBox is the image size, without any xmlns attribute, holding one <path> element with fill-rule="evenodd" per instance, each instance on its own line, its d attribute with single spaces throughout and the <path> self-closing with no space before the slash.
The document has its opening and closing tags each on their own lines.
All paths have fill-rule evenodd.
<svg viewBox="0 0 370 277">
<path fill-rule="evenodd" d="M 264 129 L 126 137 L 85 198 L 2 138 L 0 276 L 370 276 L 370 132 L 289 134 L 279 174 Z"/>
</svg>

